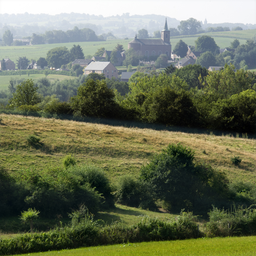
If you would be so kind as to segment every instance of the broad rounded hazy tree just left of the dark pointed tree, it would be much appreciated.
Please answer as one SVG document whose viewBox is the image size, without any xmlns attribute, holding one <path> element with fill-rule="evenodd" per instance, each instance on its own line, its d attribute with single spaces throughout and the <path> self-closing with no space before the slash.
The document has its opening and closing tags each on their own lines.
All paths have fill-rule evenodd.
<svg viewBox="0 0 256 256">
<path fill-rule="evenodd" d="M 52 48 L 47 52 L 46 61 L 49 66 L 60 68 L 70 61 L 70 53 L 66 46 Z"/>
</svg>

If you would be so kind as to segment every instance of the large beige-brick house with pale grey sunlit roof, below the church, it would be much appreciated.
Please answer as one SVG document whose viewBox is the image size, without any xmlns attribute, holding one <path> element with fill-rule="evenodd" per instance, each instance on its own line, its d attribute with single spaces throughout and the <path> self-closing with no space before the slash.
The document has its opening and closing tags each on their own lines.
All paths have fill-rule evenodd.
<svg viewBox="0 0 256 256">
<path fill-rule="evenodd" d="M 106 78 L 115 77 L 117 79 L 118 71 L 116 67 L 109 61 L 93 61 L 85 69 L 84 75 L 90 73 L 104 74 Z"/>
</svg>

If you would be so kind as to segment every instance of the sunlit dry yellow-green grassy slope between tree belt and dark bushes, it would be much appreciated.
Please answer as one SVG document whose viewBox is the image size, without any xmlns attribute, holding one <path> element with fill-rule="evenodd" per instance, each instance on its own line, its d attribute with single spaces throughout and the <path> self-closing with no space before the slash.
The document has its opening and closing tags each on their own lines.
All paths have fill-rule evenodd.
<svg viewBox="0 0 256 256">
<path fill-rule="evenodd" d="M 0 165 L 10 171 L 61 166 L 71 153 L 79 164 L 100 166 L 115 181 L 126 173 L 137 176 L 154 154 L 169 143 L 181 142 L 195 150 L 196 161 L 225 171 L 231 180 L 254 182 L 256 177 L 256 141 L 241 138 L 242 134 L 237 138 L 168 131 L 164 126 L 128 128 L 125 122 L 112 126 L 5 114 L 0 118 Z M 32 134 L 41 139 L 41 146 L 28 145 L 26 138 Z M 230 161 L 234 155 L 242 159 L 239 167 Z"/>
</svg>

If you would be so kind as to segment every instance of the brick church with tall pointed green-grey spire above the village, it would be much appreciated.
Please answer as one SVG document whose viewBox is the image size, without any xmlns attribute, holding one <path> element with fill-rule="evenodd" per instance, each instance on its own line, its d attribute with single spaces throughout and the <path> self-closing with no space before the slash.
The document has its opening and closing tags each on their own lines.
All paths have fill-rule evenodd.
<svg viewBox="0 0 256 256">
<path fill-rule="evenodd" d="M 136 34 L 135 38 L 128 43 L 128 49 L 129 48 L 133 48 L 138 55 L 147 58 L 161 54 L 166 54 L 171 58 L 172 46 L 170 43 L 170 30 L 167 26 L 167 19 L 165 20 L 165 28 L 161 31 L 161 39 L 138 39 Z"/>
</svg>

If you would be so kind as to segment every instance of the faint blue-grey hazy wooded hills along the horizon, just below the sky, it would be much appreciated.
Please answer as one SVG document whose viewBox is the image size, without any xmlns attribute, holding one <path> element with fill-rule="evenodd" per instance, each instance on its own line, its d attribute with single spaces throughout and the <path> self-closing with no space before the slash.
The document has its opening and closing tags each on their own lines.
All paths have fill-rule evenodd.
<svg viewBox="0 0 256 256">
<path fill-rule="evenodd" d="M 144 28 L 148 30 L 150 36 L 156 30 L 162 30 L 166 16 L 147 14 L 147 15 L 122 15 L 103 17 L 102 15 L 89 15 L 80 13 L 61 13 L 56 15 L 48 14 L 0 14 L 0 38 L 5 30 L 10 29 L 14 38 L 31 36 L 32 33 L 41 34 L 47 30 L 63 30 L 67 31 L 77 26 L 79 29 L 89 28 L 95 31 L 97 35 L 111 32 L 116 38 L 134 37 L 134 34 Z M 180 20 L 167 16 L 169 28 L 177 28 Z M 219 23 L 219 24 L 203 24 L 202 29 L 208 27 L 234 27 L 243 29 L 255 29 L 256 25 L 242 23 Z M 114 39 L 114 38 L 111 38 Z"/>
</svg>

